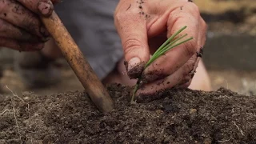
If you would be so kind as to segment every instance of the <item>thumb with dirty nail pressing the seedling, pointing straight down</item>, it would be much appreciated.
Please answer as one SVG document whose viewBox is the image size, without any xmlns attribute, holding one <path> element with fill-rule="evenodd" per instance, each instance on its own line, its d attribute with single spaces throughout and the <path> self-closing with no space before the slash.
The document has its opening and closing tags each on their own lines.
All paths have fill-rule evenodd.
<svg viewBox="0 0 256 144">
<path fill-rule="evenodd" d="M 150 50 L 146 20 L 138 13 L 131 13 L 117 12 L 114 22 L 122 41 L 127 74 L 130 78 L 138 78 L 150 58 Z"/>
</svg>

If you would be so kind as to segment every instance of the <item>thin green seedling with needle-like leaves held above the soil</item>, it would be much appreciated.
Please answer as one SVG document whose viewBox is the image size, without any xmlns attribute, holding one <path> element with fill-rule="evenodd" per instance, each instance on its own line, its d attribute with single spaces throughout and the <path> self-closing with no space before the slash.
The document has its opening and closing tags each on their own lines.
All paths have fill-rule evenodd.
<svg viewBox="0 0 256 144">
<path fill-rule="evenodd" d="M 180 30 L 178 30 L 174 35 L 170 36 L 170 38 L 168 38 L 168 39 L 166 40 L 166 42 L 164 42 L 164 43 L 162 44 L 162 46 L 160 46 L 160 47 L 158 48 L 158 50 L 156 50 L 156 51 L 154 52 L 154 54 L 152 55 L 152 57 L 150 58 L 150 60 L 149 60 L 149 61 L 146 63 L 146 65 L 144 66 L 144 70 L 146 69 L 147 66 L 150 66 L 150 64 L 151 64 L 152 62 L 154 62 L 154 61 L 155 61 L 156 59 L 158 59 L 160 56 L 162 56 L 163 54 L 165 54 L 167 51 L 169 51 L 169 50 L 173 49 L 174 47 L 179 46 L 179 45 L 181 45 L 181 44 L 183 44 L 183 43 L 185 43 L 185 42 L 188 42 L 188 41 L 190 41 L 191 39 L 193 39 L 193 37 L 190 37 L 190 38 L 187 38 L 187 39 L 185 39 L 185 40 L 182 41 L 182 38 L 185 38 L 185 37 L 187 36 L 187 34 L 184 34 L 184 35 L 182 35 L 182 36 L 176 38 L 176 36 L 177 36 L 178 34 L 180 34 L 180 33 L 181 33 L 183 30 L 185 30 L 185 29 L 186 29 L 186 26 L 182 27 L 182 28 L 181 28 Z M 142 80 L 142 77 L 140 76 L 140 77 L 138 78 L 138 81 L 136 82 L 136 85 L 134 86 L 133 95 L 132 95 L 132 98 L 131 98 L 131 101 L 130 101 L 131 103 L 134 102 L 134 97 L 135 97 L 135 94 L 136 94 L 136 92 L 137 92 L 137 90 L 138 90 L 138 86 L 139 86 L 141 80 Z"/>
</svg>

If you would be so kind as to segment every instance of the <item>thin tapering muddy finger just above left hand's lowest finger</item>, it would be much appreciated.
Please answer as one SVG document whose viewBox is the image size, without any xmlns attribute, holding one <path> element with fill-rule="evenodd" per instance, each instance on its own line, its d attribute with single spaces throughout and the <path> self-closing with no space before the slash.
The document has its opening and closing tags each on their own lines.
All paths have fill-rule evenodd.
<svg viewBox="0 0 256 144">
<path fill-rule="evenodd" d="M 0 37 L 15 39 L 22 42 L 39 42 L 38 37 L 29 34 L 25 30 L 18 28 L 10 24 L 9 22 L 3 21 L 0 18 Z"/>
</svg>

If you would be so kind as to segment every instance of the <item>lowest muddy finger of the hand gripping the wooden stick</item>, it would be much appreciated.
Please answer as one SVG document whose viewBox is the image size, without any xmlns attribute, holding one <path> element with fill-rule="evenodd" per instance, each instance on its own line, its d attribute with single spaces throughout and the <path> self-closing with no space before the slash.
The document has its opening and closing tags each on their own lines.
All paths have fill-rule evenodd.
<svg viewBox="0 0 256 144">
<path fill-rule="evenodd" d="M 7 47 L 14 50 L 19 50 L 19 51 L 36 51 L 36 50 L 42 50 L 44 43 L 18 42 L 14 39 L 0 37 L 0 46 Z"/>
</svg>

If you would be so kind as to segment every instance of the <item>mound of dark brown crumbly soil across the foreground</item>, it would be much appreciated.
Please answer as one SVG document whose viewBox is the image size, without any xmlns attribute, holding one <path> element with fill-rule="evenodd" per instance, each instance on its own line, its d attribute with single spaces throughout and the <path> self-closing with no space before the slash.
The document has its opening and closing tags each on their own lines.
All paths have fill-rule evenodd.
<svg viewBox="0 0 256 144">
<path fill-rule="evenodd" d="M 255 143 L 256 97 L 166 90 L 130 105 L 130 87 L 108 86 L 116 109 L 86 93 L 0 95 L 0 143 Z"/>
</svg>

